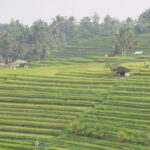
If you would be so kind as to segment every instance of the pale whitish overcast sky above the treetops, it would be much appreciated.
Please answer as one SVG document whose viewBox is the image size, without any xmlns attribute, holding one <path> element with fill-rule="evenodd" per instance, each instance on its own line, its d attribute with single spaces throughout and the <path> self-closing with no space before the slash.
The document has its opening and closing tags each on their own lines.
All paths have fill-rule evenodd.
<svg viewBox="0 0 150 150">
<path fill-rule="evenodd" d="M 12 18 L 28 25 L 38 19 L 50 23 L 58 14 L 79 20 L 94 12 L 101 21 L 107 14 L 120 20 L 136 19 L 148 8 L 150 0 L 0 0 L 0 23 L 9 23 Z"/>
</svg>

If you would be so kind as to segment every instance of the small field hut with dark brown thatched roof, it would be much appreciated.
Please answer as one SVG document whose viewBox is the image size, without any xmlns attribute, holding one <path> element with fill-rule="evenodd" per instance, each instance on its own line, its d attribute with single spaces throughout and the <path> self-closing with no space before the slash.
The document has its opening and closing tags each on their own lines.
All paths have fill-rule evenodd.
<svg viewBox="0 0 150 150">
<path fill-rule="evenodd" d="M 130 69 L 125 67 L 117 67 L 116 69 L 113 69 L 113 71 L 116 71 L 117 77 L 129 77 L 130 76 Z"/>
</svg>

